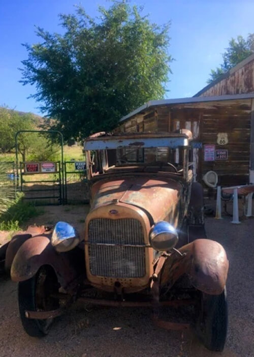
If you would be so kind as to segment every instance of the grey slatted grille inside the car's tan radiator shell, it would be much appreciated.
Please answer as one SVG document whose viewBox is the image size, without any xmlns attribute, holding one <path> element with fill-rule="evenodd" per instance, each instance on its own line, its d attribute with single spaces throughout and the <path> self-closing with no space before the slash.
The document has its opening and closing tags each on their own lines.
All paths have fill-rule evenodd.
<svg viewBox="0 0 254 357">
<path fill-rule="evenodd" d="M 143 277 L 145 248 L 137 245 L 144 245 L 143 228 L 138 220 L 92 219 L 88 225 L 91 274 L 112 278 Z"/>
</svg>

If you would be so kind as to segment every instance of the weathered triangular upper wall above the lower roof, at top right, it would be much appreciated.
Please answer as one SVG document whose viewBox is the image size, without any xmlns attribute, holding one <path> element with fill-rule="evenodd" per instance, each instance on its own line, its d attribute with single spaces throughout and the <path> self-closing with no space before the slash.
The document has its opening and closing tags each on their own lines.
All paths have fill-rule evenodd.
<svg viewBox="0 0 254 357">
<path fill-rule="evenodd" d="M 202 91 L 201 91 L 202 92 Z M 226 78 L 215 82 L 201 94 L 200 97 L 223 96 L 227 94 L 243 94 L 254 92 L 254 59 L 243 67 L 232 69 Z"/>
</svg>

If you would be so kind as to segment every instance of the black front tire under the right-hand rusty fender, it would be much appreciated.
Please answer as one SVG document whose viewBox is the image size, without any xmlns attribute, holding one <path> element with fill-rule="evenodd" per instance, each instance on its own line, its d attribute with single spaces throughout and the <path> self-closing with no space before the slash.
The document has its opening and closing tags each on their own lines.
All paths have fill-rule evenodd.
<svg viewBox="0 0 254 357">
<path fill-rule="evenodd" d="M 228 331 L 228 304 L 226 287 L 220 295 L 202 296 L 198 318 L 198 336 L 211 351 L 223 351 Z"/>
</svg>

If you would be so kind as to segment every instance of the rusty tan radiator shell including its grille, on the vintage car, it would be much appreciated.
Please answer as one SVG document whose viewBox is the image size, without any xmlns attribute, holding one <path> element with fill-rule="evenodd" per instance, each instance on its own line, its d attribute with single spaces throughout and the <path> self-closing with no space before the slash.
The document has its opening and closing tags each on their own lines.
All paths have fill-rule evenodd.
<svg viewBox="0 0 254 357">
<path fill-rule="evenodd" d="M 116 282 L 125 292 L 147 287 L 153 273 L 149 229 L 147 215 L 126 203 L 90 211 L 85 223 L 86 277 L 90 284 L 106 291 L 114 291 Z"/>
</svg>

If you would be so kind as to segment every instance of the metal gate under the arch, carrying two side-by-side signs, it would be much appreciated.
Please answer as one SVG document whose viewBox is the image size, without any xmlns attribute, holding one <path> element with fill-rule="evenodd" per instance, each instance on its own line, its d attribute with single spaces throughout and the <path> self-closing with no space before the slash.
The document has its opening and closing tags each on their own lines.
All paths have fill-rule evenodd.
<svg viewBox="0 0 254 357">
<path fill-rule="evenodd" d="M 60 161 L 21 162 L 20 191 L 36 204 L 63 203 Z"/>
</svg>

